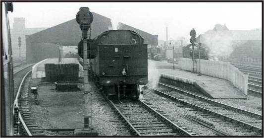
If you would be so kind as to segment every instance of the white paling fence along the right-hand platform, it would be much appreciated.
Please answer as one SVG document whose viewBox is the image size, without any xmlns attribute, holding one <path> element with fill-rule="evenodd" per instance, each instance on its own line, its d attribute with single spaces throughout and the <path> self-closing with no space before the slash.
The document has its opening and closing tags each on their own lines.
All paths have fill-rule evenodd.
<svg viewBox="0 0 264 138">
<path fill-rule="evenodd" d="M 192 59 L 179 58 L 180 69 L 192 71 Z M 199 60 L 195 60 L 195 72 L 199 71 Z M 201 73 L 213 77 L 229 80 L 235 87 L 245 95 L 248 94 L 248 75 L 244 74 L 228 62 L 217 62 L 201 60 Z"/>
</svg>

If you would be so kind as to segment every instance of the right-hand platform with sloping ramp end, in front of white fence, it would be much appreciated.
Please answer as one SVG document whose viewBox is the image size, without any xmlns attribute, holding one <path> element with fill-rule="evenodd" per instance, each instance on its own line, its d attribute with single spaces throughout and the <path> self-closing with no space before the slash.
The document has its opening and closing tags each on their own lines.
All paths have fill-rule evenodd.
<svg viewBox="0 0 264 138">
<path fill-rule="evenodd" d="M 228 80 L 207 75 L 198 76 L 198 73 L 192 73 L 189 71 L 178 69 L 178 66 L 176 65 L 175 69 L 173 69 L 172 64 L 166 64 L 158 61 L 149 62 L 153 62 L 156 65 L 158 72 L 161 74 L 161 77 L 194 85 L 195 87 L 197 87 L 197 89 L 199 89 L 202 93 L 210 98 L 247 98 L 247 95 L 242 93 L 242 91 L 240 91 L 238 88 L 234 87 L 234 85 Z"/>
</svg>

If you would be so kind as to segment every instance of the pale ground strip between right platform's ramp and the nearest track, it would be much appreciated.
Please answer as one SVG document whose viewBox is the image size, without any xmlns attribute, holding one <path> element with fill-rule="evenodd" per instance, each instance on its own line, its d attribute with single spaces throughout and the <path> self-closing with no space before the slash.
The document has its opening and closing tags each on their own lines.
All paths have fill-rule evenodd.
<svg viewBox="0 0 264 138">
<path fill-rule="evenodd" d="M 166 85 L 169 85 L 169 84 L 166 84 Z M 208 98 L 207 96 L 205 96 L 204 94 L 199 93 L 199 92 L 182 89 L 180 87 L 176 87 L 173 85 L 169 85 L 169 86 L 175 87 L 175 88 L 180 89 L 180 90 L 187 91 L 189 93 L 199 95 L 201 97 Z M 210 98 L 208 98 L 208 99 L 210 99 Z M 236 108 L 248 110 L 248 111 L 251 111 L 251 112 L 254 112 L 257 114 L 262 114 L 262 99 L 255 97 L 255 96 L 248 95 L 248 99 L 211 99 L 211 100 L 217 101 L 220 103 L 224 103 L 227 105 L 231 105 L 231 106 L 234 106 Z"/>
</svg>

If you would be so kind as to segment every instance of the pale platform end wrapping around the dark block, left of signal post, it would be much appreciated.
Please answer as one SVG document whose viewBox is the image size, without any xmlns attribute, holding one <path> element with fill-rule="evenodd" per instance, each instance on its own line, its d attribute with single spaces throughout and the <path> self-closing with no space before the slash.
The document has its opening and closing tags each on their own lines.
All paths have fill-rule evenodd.
<svg viewBox="0 0 264 138">
<path fill-rule="evenodd" d="M 61 62 L 58 63 L 58 58 L 49 58 L 40 61 L 32 67 L 32 78 L 46 77 L 45 64 L 79 64 L 77 58 L 62 58 Z M 79 64 L 79 77 L 83 77 L 83 68 Z"/>
</svg>

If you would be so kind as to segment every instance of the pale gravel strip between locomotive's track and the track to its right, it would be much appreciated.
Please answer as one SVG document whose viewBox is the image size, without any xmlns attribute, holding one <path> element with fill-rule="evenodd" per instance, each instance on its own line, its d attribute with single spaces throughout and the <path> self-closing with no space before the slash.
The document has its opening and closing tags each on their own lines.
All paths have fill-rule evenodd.
<svg viewBox="0 0 264 138">
<path fill-rule="evenodd" d="M 214 132 L 210 129 L 205 128 L 189 119 L 187 119 L 187 115 L 192 115 L 198 117 L 202 120 L 210 122 L 214 125 L 217 130 L 230 134 L 230 136 L 243 136 L 243 133 L 236 132 L 232 126 L 222 123 L 216 122 L 215 119 L 208 119 L 196 114 L 195 111 L 188 110 L 186 108 L 180 108 L 176 104 L 176 102 L 169 100 L 167 98 L 160 98 L 155 96 L 156 93 L 154 92 L 145 92 L 143 99 L 148 100 L 148 102 L 152 103 L 153 105 L 157 106 L 158 109 L 161 109 L 164 113 L 169 115 L 171 118 L 176 119 L 177 122 L 182 123 L 186 128 L 192 130 L 193 132 L 197 133 L 199 136 L 215 136 Z"/>
</svg>

